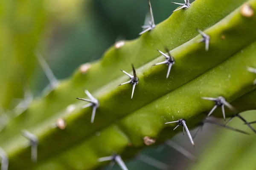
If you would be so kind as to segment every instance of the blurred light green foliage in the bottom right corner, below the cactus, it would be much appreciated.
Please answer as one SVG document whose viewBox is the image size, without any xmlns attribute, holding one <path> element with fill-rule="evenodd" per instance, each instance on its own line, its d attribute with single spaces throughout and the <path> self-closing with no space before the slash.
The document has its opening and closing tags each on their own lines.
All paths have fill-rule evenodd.
<svg viewBox="0 0 256 170">
<path fill-rule="evenodd" d="M 241 113 L 247 120 L 256 119 L 256 111 Z M 231 126 L 250 132 L 243 122 L 236 118 Z M 212 136 L 212 140 L 201 148 L 198 162 L 189 170 L 255 170 L 256 135 L 243 135 L 222 130 Z"/>
</svg>

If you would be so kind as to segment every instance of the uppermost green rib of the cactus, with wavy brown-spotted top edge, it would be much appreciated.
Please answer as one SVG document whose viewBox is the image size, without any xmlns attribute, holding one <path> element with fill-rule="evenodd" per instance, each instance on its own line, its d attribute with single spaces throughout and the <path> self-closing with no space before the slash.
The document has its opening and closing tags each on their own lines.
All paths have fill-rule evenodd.
<svg viewBox="0 0 256 170">
<path fill-rule="evenodd" d="M 137 40 L 125 42 L 122 48 L 110 48 L 102 60 L 91 64 L 87 74 L 82 74 L 78 70 L 73 77 L 62 81 L 59 87 L 47 96 L 36 99 L 26 111 L 26 119 L 21 118 L 23 121 L 18 119 L 15 122 L 17 128 L 13 128 L 12 133 L 8 132 L 8 136 L 19 133 L 21 127 L 28 128 L 37 125 L 49 116 L 67 108 L 68 105 L 75 102 L 76 97 L 83 94 L 82 91 L 85 88 L 93 93 L 111 80 L 123 76 L 122 72 L 118 70 L 131 71 L 131 65 L 128 63 L 134 63 L 135 67 L 139 67 L 160 56 L 156 49 L 163 51 L 163 47 L 167 46 L 171 50 L 191 40 L 198 35 L 196 28 L 204 30 L 214 25 L 244 1 L 227 0 L 219 3 L 215 3 L 214 0 L 197 1 L 186 12 L 177 11 L 172 14 L 169 19 L 156 26 L 154 31 L 144 34 Z M 202 14 L 201 9 L 208 8 L 208 6 L 211 8 L 204 10 Z M 209 17 L 204 17 L 204 15 Z"/>
</svg>

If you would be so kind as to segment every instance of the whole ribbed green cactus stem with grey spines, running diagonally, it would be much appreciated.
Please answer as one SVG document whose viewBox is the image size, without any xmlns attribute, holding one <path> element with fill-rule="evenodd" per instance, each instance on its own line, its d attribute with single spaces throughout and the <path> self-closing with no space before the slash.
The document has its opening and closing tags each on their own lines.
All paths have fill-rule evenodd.
<svg viewBox="0 0 256 170">
<path fill-rule="evenodd" d="M 202 97 L 223 96 L 237 113 L 254 109 L 256 74 L 247 67 L 256 67 L 256 16 L 250 14 L 256 0 L 242 3 L 195 1 L 137 40 L 114 45 L 102 60 L 81 65 L 0 132 L 9 169 L 89 170 L 100 165 L 99 158 L 114 153 L 131 158 L 146 145 L 179 132 L 172 130 L 177 124 L 167 122 L 182 119 L 180 125 L 196 127 L 214 105 Z M 171 50 L 167 54 L 165 47 Z M 157 63 L 168 66 L 152 66 Z M 132 68 L 137 76 L 125 72 Z M 119 69 L 132 85 L 118 86 L 129 80 Z M 90 105 L 76 99 L 84 98 L 84 90 L 90 91 L 90 100 L 82 100 Z M 223 101 L 216 106 L 224 107 Z M 212 114 L 234 114 L 223 111 L 217 108 Z M 21 135 L 23 129 L 29 140 Z M 145 144 L 145 139 L 154 142 Z"/>
</svg>

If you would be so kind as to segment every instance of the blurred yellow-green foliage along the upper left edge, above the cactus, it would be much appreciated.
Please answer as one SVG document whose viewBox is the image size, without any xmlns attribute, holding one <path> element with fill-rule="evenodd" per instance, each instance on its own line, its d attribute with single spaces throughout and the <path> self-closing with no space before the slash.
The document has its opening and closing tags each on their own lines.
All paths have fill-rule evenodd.
<svg viewBox="0 0 256 170">
<path fill-rule="evenodd" d="M 46 29 L 43 1 L 1 0 L 0 2 L 0 106 L 12 107 L 29 89 L 35 68 L 33 51 Z"/>
</svg>

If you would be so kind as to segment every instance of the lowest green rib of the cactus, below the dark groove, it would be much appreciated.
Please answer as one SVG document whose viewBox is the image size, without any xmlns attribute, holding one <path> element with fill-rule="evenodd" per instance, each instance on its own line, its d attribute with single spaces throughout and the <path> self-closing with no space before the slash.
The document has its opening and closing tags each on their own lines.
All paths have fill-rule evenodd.
<svg viewBox="0 0 256 170">
<path fill-rule="evenodd" d="M 252 81 L 255 75 L 251 75 L 251 73 L 248 73 L 246 70 L 247 65 L 253 62 L 256 64 L 254 57 L 255 52 L 256 42 L 244 48 L 242 52 L 234 55 L 221 65 L 207 71 L 207 73 L 197 79 L 166 94 L 124 119 L 121 119 L 119 123 L 99 131 L 103 136 L 93 135 L 86 142 L 81 142 L 81 144 L 70 148 L 61 156 L 44 164 L 43 167 L 45 168 L 55 164 L 55 162 L 61 162 L 64 167 L 70 167 L 70 169 L 80 169 L 79 166 L 83 167 L 82 169 L 90 169 L 98 164 L 96 160 L 99 157 L 110 155 L 114 151 L 127 154 L 132 148 L 138 149 L 144 146 L 144 136 L 160 138 L 160 141 L 163 141 L 175 135 L 177 131 L 172 131 L 175 125 L 163 125 L 165 122 L 183 118 L 188 120 L 187 123 L 190 128 L 195 127 L 202 119 L 202 116 L 196 117 L 198 113 L 209 110 L 212 107 L 211 102 L 202 101 L 202 99 L 200 99 L 201 95 L 218 96 L 225 94 L 224 96 L 227 99 L 233 100 L 241 96 L 241 94 L 244 94 L 234 102 L 231 102 L 231 104 L 235 106 L 239 112 L 243 111 L 244 108 L 255 108 L 256 104 L 253 94 L 256 94 L 256 90 L 250 91 L 253 89 Z M 230 77 L 230 79 L 226 77 Z M 243 79 L 241 79 L 241 77 L 243 77 Z M 244 81 L 245 84 L 241 85 L 239 88 L 234 88 L 233 84 L 239 82 L 240 85 L 240 81 Z M 247 93 L 249 92 L 248 88 L 250 89 L 250 93 Z M 201 95 L 198 96 L 200 93 Z M 184 98 L 186 100 L 184 100 Z M 166 105 L 169 105 L 169 103 L 172 103 L 174 107 L 166 108 Z M 215 115 L 221 117 L 221 111 L 219 110 L 217 112 L 218 114 Z M 232 115 L 230 111 L 226 110 L 226 112 L 228 115 Z M 182 115 L 180 113 L 182 113 Z M 174 116 L 174 118 L 172 118 L 172 116 Z M 163 129 L 167 126 L 171 126 L 171 128 Z M 111 132 L 111 130 L 113 131 Z M 105 136 L 108 135 L 109 138 L 106 141 Z M 120 144 L 116 143 L 116 139 Z M 128 143 L 133 144 L 133 147 L 128 147 Z M 86 152 L 84 152 L 84 150 L 86 150 Z M 87 161 L 87 158 L 90 159 Z M 74 164 L 74 162 L 79 163 Z"/>
</svg>

